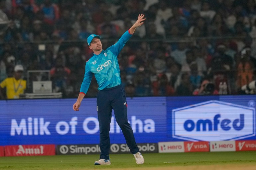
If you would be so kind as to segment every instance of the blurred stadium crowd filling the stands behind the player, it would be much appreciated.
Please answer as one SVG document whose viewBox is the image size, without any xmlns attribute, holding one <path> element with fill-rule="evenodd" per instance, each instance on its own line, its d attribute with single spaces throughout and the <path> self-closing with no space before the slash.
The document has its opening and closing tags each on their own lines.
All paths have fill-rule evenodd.
<svg viewBox="0 0 256 170">
<path fill-rule="evenodd" d="M 243 94 L 255 80 L 255 0 L 0 0 L 0 82 L 17 64 L 30 82 L 47 76 L 27 71 L 50 70 L 54 92 L 75 98 L 87 37 L 105 49 L 141 13 L 118 57 L 127 96 Z M 96 95 L 93 78 L 86 97 Z"/>
</svg>

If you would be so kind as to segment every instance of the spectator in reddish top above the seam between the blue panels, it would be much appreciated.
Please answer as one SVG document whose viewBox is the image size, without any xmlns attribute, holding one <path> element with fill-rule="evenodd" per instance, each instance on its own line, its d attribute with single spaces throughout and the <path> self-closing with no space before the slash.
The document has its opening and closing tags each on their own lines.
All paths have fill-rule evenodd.
<svg viewBox="0 0 256 170">
<path fill-rule="evenodd" d="M 175 94 L 175 90 L 170 85 L 165 74 L 159 75 L 158 81 L 152 83 L 152 90 L 154 96 L 171 96 Z"/>
</svg>

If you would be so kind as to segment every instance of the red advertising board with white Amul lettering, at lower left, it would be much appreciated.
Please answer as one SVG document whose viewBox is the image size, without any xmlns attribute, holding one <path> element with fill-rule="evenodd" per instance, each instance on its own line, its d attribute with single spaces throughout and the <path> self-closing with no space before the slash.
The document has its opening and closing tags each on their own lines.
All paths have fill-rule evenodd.
<svg viewBox="0 0 256 170">
<path fill-rule="evenodd" d="M 8 145 L 4 149 L 5 156 L 55 155 L 55 144 Z"/>
</svg>

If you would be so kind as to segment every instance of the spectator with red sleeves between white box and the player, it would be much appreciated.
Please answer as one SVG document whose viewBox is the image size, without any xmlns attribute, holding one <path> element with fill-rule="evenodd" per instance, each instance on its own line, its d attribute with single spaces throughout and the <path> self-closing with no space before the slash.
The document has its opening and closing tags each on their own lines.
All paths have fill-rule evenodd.
<svg viewBox="0 0 256 170">
<path fill-rule="evenodd" d="M 55 65 L 50 71 L 54 87 L 53 91 L 65 92 L 66 81 L 69 78 L 70 72 L 70 69 L 64 66 L 63 58 L 57 57 L 55 59 Z"/>
</svg>

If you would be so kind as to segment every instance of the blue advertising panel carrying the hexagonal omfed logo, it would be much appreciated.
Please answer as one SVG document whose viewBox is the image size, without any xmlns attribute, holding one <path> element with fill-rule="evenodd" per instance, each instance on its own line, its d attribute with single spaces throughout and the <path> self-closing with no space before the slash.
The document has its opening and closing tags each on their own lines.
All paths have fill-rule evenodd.
<svg viewBox="0 0 256 170">
<path fill-rule="evenodd" d="M 255 95 L 167 98 L 172 141 L 255 140 Z"/>
</svg>

